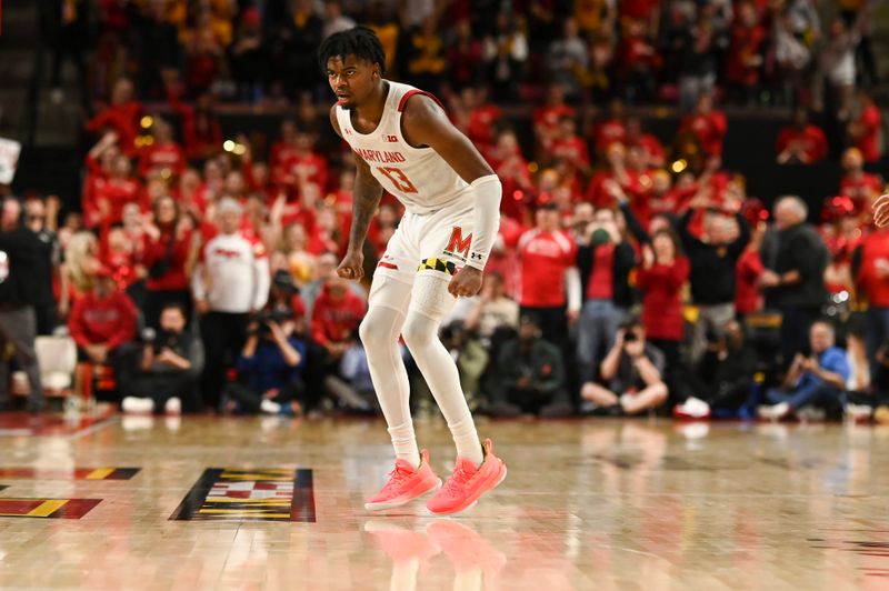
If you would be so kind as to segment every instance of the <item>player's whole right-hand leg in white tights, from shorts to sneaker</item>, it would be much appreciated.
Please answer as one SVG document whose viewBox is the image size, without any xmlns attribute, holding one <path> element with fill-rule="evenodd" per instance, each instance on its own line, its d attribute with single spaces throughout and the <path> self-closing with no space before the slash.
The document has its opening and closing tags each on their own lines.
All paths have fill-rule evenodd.
<svg viewBox="0 0 889 591">
<path fill-rule="evenodd" d="M 451 277 L 436 270 L 418 273 L 401 334 L 448 421 L 457 454 L 478 465 L 483 459 L 481 445 L 460 385 L 457 363 L 438 338 L 441 320 L 456 302 L 448 292 Z"/>
</svg>

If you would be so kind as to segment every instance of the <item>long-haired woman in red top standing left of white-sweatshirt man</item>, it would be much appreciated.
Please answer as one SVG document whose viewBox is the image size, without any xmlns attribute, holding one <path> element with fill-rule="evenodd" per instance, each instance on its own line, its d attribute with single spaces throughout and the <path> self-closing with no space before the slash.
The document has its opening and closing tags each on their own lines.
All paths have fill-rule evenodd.
<svg viewBox="0 0 889 591">
<path fill-rule="evenodd" d="M 143 264 L 146 279 L 146 324 L 157 329 L 164 304 L 181 303 L 191 318 L 191 292 L 186 262 L 191 250 L 192 231 L 181 224 L 179 204 L 172 197 L 154 203 L 154 224 L 146 240 Z"/>
</svg>

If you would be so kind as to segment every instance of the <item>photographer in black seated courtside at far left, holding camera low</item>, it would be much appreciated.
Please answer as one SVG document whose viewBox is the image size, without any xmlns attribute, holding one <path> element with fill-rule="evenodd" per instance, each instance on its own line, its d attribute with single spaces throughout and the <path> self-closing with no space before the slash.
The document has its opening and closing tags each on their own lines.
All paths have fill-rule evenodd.
<svg viewBox="0 0 889 591">
<path fill-rule="evenodd" d="M 160 311 L 160 330 L 142 330 L 136 354 L 120 364 L 118 389 L 123 412 L 199 410 L 197 385 L 203 355 L 200 342 L 186 330 L 186 320 L 182 304 L 169 302 Z"/>
</svg>

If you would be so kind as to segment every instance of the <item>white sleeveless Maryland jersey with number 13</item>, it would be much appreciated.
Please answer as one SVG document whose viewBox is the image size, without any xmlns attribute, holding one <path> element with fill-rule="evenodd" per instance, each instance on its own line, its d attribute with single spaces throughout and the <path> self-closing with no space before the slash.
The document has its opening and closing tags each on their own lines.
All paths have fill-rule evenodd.
<svg viewBox="0 0 889 591">
<path fill-rule="evenodd" d="M 337 107 L 340 132 L 351 149 L 370 166 L 383 189 L 411 213 L 429 213 L 446 206 L 470 203 L 472 189 L 432 148 L 413 148 L 401 134 L 401 113 L 412 94 L 427 94 L 399 82 L 387 81 L 389 94 L 382 119 L 371 133 L 352 127 L 348 110 Z M 430 96 L 431 94 L 427 94 Z"/>
</svg>

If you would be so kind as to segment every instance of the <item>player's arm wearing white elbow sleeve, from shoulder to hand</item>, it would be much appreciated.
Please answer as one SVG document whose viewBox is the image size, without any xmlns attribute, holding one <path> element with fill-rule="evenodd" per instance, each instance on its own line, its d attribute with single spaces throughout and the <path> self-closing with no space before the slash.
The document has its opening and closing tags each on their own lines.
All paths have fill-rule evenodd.
<svg viewBox="0 0 889 591">
<path fill-rule="evenodd" d="M 500 179 L 469 138 L 453 127 L 444 111 L 429 97 L 417 94 L 408 99 L 401 127 L 404 139 L 411 146 L 432 148 L 476 190 L 469 260 L 449 287 L 455 296 L 475 296 L 481 288 L 481 271 L 500 227 L 500 198 L 503 192 Z"/>
</svg>

